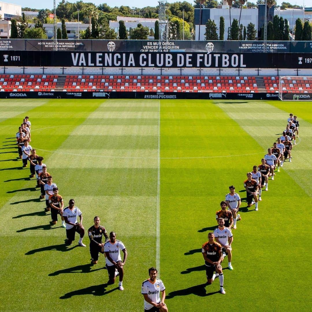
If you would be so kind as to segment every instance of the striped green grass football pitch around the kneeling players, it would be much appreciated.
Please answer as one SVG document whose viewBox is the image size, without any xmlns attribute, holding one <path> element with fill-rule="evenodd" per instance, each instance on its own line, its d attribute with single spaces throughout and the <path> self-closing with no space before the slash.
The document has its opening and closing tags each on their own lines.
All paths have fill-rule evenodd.
<svg viewBox="0 0 312 312">
<path fill-rule="evenodd" d="M 285 129 L 300 133 L 293 159 L 269 179 L 259 211 L 247 208 L 243 181 Z M 107 286 L 104 256 L 64 245 L 51 226 L 15 134 L 32 123 L 64 199 L 87 230 L 101 217 L 127 248 L 124 291 Z M 143 311 L 141 284 L 157 266 L 169 311 L 310 311 L 312 106 L 309 102 L 226 100 L 0 100 L 0 311 Z M 233 232 L 233 271 L 223 261 L 206 285 L 201 246 L 235 185 L 242 198 Z M 309 308 L 310 306 L 310 308 Z"/>
</svg>

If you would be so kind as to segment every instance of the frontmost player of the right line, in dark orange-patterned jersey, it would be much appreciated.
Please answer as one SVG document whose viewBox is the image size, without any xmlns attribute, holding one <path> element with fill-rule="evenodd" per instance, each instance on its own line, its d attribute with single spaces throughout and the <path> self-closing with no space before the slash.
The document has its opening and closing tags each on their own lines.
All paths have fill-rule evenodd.
<svg viewBox="0 0 312 312">
<path fill-rule="evenodd" d="M 215 278 L 219 276 L 220 292 L 224 295 L 225 290 L 223 288 L 223 272 L 221 266 L 223 260 L 222 246 L 215 241 L 215 236 L 212 232 L 208 233 L 208 241 L 202 245 L 202 256 L 205 260 L 207 284 L 211 285 Z"/>
</svg>

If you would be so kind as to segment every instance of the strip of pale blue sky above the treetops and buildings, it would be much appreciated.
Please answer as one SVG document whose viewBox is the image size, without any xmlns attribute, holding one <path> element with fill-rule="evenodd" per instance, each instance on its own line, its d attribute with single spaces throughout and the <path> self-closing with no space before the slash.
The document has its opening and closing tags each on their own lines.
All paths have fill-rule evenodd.
<svg viewBox="0 0 312 312">
<path fill-rule="evenodd" d="M 68 2 L 76 2 L 77 0 L 66 0 Z M 183 2 L 184 0 L 179 0 L 180 2 Z M 190 2 L 191 4 L 194 3 L 193 0 L 186 0 L 187 2 Z M 256 3 L 257 0 L 249 0 L 250 2 Z M 33 9 L 53 9 L 53 0 L 44 0 L 44 1 L 38 1 L 38 0 L 6 0 L 3 2 L 9 2 L 13 4 L 21 5 L 22 7 L 31 7 Z M 57 4 L 61 2 L 60 0 L 56 0 L 56 6 Z M 131 4 L 129 4 L 126 0 L 83 0 L 83 2 L 92 2 L 95 5 L 99 5 L 101 3 L 107 3 L 110 7 L 120 7 L 121 5 L 129 6 L 129 7 L 146 7 L 147 2 L 145 0 L 132 0 Z M 175 0 L 167 0 L 168 3 L 176 2 Z M 277 0 L 277 4 L 280 5 L 282 2 L 289 2 L 290 4 L 297 4 L 298 6 L 302 6 L 304 3 L 305 7 L 312 7 L 312 0 Z M 158 0 L 153 0 L 151 2 L 148 2 L 148 5 L 151 7 L 158 6 Z"/>
</svg>

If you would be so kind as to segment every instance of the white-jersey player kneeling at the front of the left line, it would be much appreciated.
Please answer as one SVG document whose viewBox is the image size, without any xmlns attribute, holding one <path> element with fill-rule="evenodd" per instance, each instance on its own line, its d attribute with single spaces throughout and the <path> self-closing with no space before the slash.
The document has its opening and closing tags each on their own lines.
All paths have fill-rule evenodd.
<svg viewBox="0 0 312 312">
<path fill-rule="evenodd" d="M 120 250 L 124 253 L 124 260 L 121 261 Z M 124 278 L 124 264 L 126 263 L 128 253 L 126 247 L 116 239 L 116 233 L 110 232 L 110 240 L 107 241 L 102 247 L 102 251 L 105 252 L 106 257 L 106 268 L 108 271 L 108 284 L 114 284 L 116 276 L 119 273 L 119 290 L 124 290 L 122 286 L 122 280 Z M 117 269 L 117 272 L 116 270 Z"/>
</svg>

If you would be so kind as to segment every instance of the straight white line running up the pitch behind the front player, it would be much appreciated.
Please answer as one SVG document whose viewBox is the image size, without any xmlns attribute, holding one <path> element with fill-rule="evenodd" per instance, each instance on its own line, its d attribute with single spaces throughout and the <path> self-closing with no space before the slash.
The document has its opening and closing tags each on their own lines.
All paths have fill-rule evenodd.
<svg viewBox="0 0 312 312">
<path fill-rule="evenodd" d="M 160 100 L 158 101 L 157 197 L 156 197 L 156 268 L 160 276 Z"/>
</svg>

